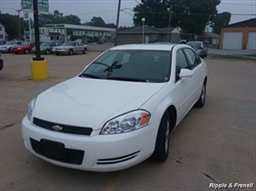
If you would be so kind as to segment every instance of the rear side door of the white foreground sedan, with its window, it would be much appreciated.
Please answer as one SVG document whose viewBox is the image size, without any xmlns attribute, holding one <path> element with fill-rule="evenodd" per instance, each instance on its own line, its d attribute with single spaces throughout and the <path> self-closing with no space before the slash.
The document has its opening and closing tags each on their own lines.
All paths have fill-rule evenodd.
<svg viewBox="0 0 256 191">
<path fill-rule="evenodd" d="M 191 86 L 193 87 L 192 104 L 194 104 L 198 101 L 203 85 L 203 65 L 200 57 L 198 57 L 194 50 L 185 48 L 184 53 L 187 57 L 187 62 L 190 65 L 190 70 L 194 73 L 193 80 L 191 80 Z"/>
</svg>

